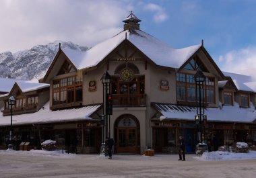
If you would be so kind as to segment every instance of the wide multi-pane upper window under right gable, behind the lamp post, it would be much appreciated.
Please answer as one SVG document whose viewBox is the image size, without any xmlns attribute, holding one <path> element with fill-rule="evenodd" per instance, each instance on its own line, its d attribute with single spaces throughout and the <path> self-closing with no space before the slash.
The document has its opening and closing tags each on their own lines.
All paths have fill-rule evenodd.
<svg viewBox="0 0 256 178">
<path fill-rule="evenodd" d="M 199 87 L 199 85 L 197 85 Z M 215 79 L 206 77 L 205 83 L 200 86 L 201 98 L 204 97 L 206 103 L 215 103 Z M 204 89 L 204 93 L 203 93 Z M 176 97 L 177 101 L 196 101 L 196 85 L 194 75 L 177 73 L 176 75 Z M 199 88 L 197 89 L 199 99 Z"/>
</svg>

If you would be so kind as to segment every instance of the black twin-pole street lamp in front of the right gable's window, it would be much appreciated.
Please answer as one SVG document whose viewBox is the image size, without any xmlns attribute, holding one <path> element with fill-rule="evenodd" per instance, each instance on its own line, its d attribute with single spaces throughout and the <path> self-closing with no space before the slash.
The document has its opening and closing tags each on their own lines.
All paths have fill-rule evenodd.
<svg viewBox="0 0 256 178">
<path fill-rule="evenodd" d="M 196 116 L 196 121 L 197 117 L 199 117 L 199 123 L 198 123 L 198 132 L 197 132 L 197 137 L 199 142 L 202 143 L 202 128 L 203 128 L 203 115 L 204 115 L 204 83 L 205 83 L 205 75 L 203 75 L 203 72 L 201 69 L 197 70 L 194 76 L 195 80 L 195 97 L 196 97 L 196 103 L 197 103 L 197 116 Z M 203 107 L 203 110 L 202 110 Z"/>
</svg>

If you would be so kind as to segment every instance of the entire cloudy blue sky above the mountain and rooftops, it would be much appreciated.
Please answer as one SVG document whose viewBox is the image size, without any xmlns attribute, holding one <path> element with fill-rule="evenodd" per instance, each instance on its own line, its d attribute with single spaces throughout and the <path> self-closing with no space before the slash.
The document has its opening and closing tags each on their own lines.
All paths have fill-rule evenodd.
<svg viewBox="0 0 256 178">
<path fill-rule="evenodd" d="M 256 68 L 255 7 L 253 0 L 1 0 L 0 52 L 55 40 L 93 46 L 121 32 L 132 10 L 141 30 L 173 48 L 203 39 L 220 69 L 245 70 Z"/>
</svg>

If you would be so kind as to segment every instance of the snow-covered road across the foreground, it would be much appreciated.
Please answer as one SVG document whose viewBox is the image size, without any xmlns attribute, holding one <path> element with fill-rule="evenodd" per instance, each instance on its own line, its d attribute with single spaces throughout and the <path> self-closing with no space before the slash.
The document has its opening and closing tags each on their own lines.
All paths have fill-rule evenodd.
<svg viewBox="0 0 256 178">
<path fill-rule="evenodd" d="M 187 161 L 177 155 L 115 155 L 113 160 L 96 154 L 49 156 L 0 154 L 0 177 L 256 177 L 256 160 Z"/>
</svg>

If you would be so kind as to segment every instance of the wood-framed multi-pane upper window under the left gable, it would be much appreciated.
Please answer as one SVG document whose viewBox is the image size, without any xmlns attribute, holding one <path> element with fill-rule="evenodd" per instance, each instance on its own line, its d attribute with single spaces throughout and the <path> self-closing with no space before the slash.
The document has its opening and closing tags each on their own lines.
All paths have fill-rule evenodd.
<svg viewBox="0 0 256 178">
<path fill-rule="evenodd" d="M 82 101 L 82 81 L 76 76 L 53 81 L 53 105 Z"/>
</svg>

